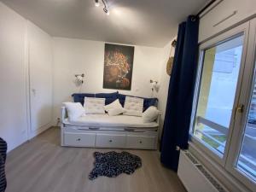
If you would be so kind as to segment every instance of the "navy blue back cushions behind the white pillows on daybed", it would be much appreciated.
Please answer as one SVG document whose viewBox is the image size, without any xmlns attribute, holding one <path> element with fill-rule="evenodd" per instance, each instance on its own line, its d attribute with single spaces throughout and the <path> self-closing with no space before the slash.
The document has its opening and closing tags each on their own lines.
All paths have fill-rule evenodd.
<svg viewBox="0 0 256 192">
<path fill-rule="evenodd" d="M 119 102 L 124 107 L 125 105 L 125 96 L 123 94 L 119 94 L 119 92 L 113 92 L 113 93 L 74 93 L 73 95 L 73 102 L 81 102 L 81 104 L 84 106 L 84 96 L 87 97 L 97 97 L 97 98 L 106 98 L 105 104 L 108 105 L 111 102 L 114 102 L 116 99 L 119 99 Z M 128 95 L 127 95 L 128 96 Z M 137 96 L 139 97 L 139 96 Z M 145 98 L 145 97 L 139 97 L 143 98 L 143 112 L 147 110 L 150 106 L 156 106 L 158 99 L 157 98 Z"/>
</svg>

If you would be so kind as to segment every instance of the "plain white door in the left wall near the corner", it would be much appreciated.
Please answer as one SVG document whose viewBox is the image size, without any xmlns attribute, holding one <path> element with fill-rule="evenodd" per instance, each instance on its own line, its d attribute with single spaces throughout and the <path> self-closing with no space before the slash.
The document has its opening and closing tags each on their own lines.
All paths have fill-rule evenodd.
<svg viewBox="0 0 256 192">
<path fill-rule="evenodd" d="M 52 44 L 49 35 L 32 23 L 28 23 L 28 42 L 33 137 L 52 121 Z"/>
</svg>

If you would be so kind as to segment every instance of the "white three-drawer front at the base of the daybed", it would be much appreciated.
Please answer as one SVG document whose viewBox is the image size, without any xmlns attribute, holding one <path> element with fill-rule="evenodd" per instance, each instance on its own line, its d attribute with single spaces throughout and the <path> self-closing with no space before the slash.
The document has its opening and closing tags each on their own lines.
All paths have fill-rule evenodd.
<svg viewBox="0 0 256 192">
<path fill-rule="evenodd" d="M 61 145 L 68 147 L 91 148 L 137 148 L 156 149 L 158 131 L 120 129 L 122 131 L 107 131 L 101 128 L 95 131 L 61 127 Z"/>
</svg>

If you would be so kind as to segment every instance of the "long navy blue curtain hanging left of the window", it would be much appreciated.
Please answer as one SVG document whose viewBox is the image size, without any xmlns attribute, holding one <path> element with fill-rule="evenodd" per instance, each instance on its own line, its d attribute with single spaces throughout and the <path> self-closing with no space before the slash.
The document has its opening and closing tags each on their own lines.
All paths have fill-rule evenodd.
<svg viewBox="0 0 256 192">
<path fill-rule="evenodd" d="M 177 171 L 179 148 L 188 148 L 198 55 L 199 19 L 191 15 L 178 27 L 166 117 L 161 137 L 162 164 Z"/>
</svg>

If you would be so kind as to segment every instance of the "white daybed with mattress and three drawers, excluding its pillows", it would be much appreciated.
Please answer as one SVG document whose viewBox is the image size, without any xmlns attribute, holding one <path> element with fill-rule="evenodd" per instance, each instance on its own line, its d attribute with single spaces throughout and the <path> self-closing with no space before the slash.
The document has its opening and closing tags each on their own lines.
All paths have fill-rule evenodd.
<svg viewBox="0 0 256 192">
<path fill-rule="evenodd" d="M 61 146 L 156 149 L 159 119 L 143 123 L 142 117 L 86 114 L 75 121 L 61 108 Z"/>
</svg>

